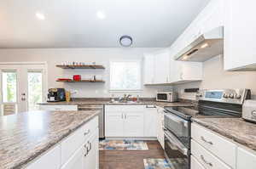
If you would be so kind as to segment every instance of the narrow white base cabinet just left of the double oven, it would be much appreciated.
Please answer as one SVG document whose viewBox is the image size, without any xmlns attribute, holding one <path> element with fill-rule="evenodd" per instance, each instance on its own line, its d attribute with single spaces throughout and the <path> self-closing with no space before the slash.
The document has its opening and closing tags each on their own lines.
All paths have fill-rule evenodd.
<svg viewBox="0 0 256 169">
<path fill-rule="evenodd" d="M 157 109 L 157 140 L 165 149 L 165 132 L 164 132 L 164 109 L 158 108 Z"/>
</svg>

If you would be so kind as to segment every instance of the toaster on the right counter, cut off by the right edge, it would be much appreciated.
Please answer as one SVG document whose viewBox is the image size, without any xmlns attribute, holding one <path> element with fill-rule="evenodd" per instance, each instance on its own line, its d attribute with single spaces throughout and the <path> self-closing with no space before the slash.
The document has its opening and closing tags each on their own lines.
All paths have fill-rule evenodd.
<svg viewBox="0 0 256 169">
<path fill-rule="evenodd" d="M 246 121 L 256 122 L 256 100 L 247 99 L 244 101 L 242 118 Z"/>
</svg>

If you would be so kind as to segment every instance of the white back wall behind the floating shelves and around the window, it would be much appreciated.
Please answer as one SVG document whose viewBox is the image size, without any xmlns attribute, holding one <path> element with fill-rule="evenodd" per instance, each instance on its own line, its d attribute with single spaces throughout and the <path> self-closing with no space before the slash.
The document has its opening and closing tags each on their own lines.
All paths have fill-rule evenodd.
<svg viewBox="0 0 256 169">
<path fill-rule="evenodd" d="M 0 49 L 0 62 L 42 62 L 48 64 L 48 87 L 65 87 L 78 90 L 73 97 L 78 98 L 104 98 L 110 97 L 109 89 L 109 61 L 122 59 L 143 59 L 143 54 L 158 50 L 159 48 L 59 48 L 59 49 Z M 62 70 L 55 65 L 66 61 L 102 64 L 106 70 Z M 72 83 L 55 82 L 58 77 L 70 77 L 81 74 L 82 77 L 102 75 L 106 81 L 98 83 Z M 132 93 L 141 97 L 155 97 L 157 90 L 163 87 L 143 87 L 143 92 Z M 123 93 L 114 93 L 120 96 Z"/>
</svg>

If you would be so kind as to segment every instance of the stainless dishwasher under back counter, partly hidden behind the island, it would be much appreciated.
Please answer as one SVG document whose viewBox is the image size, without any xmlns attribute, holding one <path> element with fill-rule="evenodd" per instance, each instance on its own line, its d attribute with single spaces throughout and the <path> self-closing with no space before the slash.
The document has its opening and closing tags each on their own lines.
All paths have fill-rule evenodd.
<svg viewBox="0 0 256 169">
<path fill-rule="evenodd" d="M 79 104 L 79 110 L 100 110 L 99 114 L 99 138 L 105 138 L 104 105 L 102 104 Z"/>
</svg>

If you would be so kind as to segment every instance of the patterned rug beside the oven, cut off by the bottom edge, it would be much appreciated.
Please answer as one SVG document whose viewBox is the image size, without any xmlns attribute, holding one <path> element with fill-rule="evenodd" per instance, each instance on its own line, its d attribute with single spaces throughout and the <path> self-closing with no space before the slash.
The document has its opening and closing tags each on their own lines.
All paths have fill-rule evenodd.
<svg viewBox="0 0 256 169">
<path fill-rule="evenodd" d="M 144 159 L 143 161 L 145 169 L 184 169 L 187 167 L 182 158 L 173 158 L 170 163 L 166 159 Z"/>
</svg>

